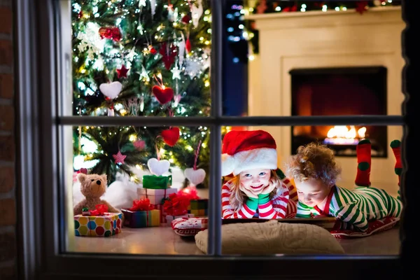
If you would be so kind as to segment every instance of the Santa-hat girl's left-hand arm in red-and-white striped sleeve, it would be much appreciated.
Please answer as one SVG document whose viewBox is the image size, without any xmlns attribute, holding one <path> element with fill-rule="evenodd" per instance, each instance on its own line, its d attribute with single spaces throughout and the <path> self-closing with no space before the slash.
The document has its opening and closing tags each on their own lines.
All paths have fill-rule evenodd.
<svg viewBox="0 0 420 280">
<path fill-rule="evenodd" d="M 229 202 L 230 189 L 227 184 L 222 187 L 222 218 L 252 218 L 257 212 L 258 202 L 249 199 L 244 205 L 235 211 Z M 258 200 L 257 200 L 258 201 Z"/>
</svg>

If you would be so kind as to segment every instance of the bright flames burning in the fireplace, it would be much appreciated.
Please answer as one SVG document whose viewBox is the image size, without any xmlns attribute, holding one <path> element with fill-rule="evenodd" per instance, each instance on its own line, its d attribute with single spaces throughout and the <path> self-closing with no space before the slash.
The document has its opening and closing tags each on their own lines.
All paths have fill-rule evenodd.
<svg viewBox="0 0 420 280">
<path fill-rule="evenodd" d="M 325 144 L 332 145 L 357 145 L 360 139 L 365 138 L 366 127 L 360 127 L 356 132 L 356 128 L 350 125 L 350 129 L 346 125 L 335 125 L 332 127 L 325 138 Z"/>
</svg>

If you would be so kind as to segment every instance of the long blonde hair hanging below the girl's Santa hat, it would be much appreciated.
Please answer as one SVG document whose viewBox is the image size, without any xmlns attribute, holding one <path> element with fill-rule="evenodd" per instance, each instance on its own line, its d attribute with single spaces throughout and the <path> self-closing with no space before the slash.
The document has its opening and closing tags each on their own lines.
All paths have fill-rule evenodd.
<svg viewBox="0 0 420 280">
<path fill-rule="evenodd" d="M 283 187 L 283 181 L 281 181 L 280 177 L 276 174 L 275 170 L 271 171 L 271 177 L 270 179 L 273 179 L 274 183 L 277 183 L 277 187 L 272 190 L 271 193 L 269 193 L 269 199 L 271 200 L 272 197 L 276 194 L 283 194 L 285 188 Z M 241 209 L 242 205 L 244 205 L 246 195 L 243 191 L 239 189 L 239 183 L 240 183 L 240 174 L 232 178 L 232 185 L 230 186 L 230 197 L 229 197 L 229 203 L 232 208 L 237 211 Z M 281 193 L 279 192 L 281 191 Z"/>
</svg>

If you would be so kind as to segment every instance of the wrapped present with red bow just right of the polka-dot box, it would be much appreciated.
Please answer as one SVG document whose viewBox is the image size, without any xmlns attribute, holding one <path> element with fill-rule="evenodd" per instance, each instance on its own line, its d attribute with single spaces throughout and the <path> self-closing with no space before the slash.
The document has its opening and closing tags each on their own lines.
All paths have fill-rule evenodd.
<svg viewBox="0 0 420 280">
<path fill-rule="evenodd" d="M 155 209 L 148 198 L 134 200 L 129 209 L 121 209 L 124 214 L 124 225 L 129 228 L 147 228 L 160 226 L 160 210 Z"/>
</svg>

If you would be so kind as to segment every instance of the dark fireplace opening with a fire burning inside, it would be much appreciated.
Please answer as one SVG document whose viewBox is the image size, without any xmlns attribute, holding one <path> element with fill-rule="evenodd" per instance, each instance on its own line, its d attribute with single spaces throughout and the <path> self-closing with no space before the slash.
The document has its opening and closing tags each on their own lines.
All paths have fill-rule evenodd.
<svg viewBox="0 0 420 280">
<path fill-rule="evenodd" d="M 383 66 L 293 69 L 292 116 L 386 115 Z M 291 153 L 311 141 L 326 144 L 337 156 L 356 157 L 361 139 L 372 143 L 372 157 L 387 157 L 387 127 L 362 125 L 295 126 Z"/>
</svg>

